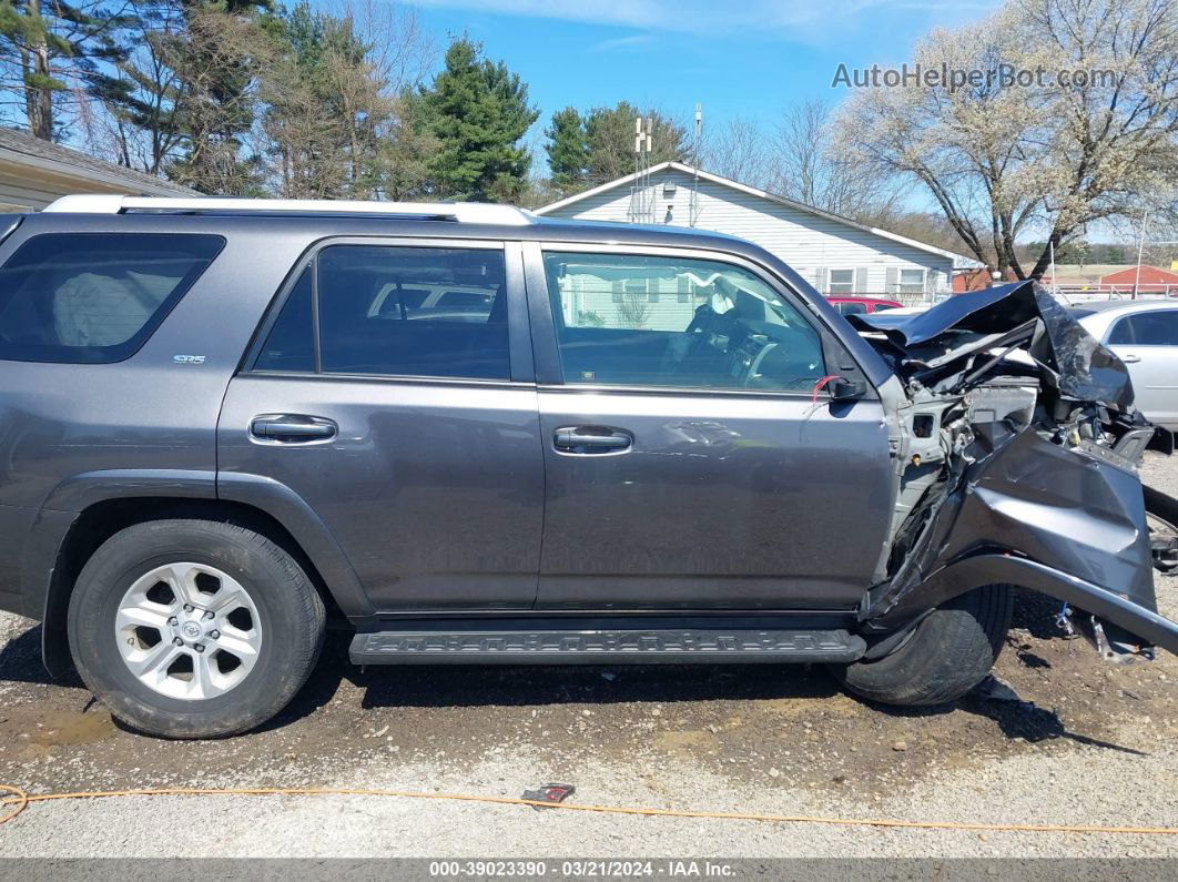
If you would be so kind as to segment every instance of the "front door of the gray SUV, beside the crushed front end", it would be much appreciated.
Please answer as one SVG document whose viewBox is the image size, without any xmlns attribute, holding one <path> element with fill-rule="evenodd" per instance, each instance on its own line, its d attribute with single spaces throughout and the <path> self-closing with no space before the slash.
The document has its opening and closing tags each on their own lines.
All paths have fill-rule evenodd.
<svg viewBox="0 0 1178 882">
<path fill-rule="evenodd" d="M 709 252 L 528 253 L 538 605 L 858 603 L 891 516 L 882 409 L 815 392 L 841 367 L 794 296 Z"/>
</svg>

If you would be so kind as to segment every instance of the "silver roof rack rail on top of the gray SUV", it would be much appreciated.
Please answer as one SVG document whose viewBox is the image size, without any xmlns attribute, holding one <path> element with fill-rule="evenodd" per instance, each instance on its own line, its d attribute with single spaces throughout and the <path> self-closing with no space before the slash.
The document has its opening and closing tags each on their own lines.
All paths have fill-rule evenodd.
<svg viewBox="0 0 1178 882">
<path fill-rule="evenodd" d="M 375 203 L 331 199 L 237 199 L 232 197 L 64 195 L 44 211 L 71 214 L 130 212 L 259 212 L 291 214 L 378 214 L 463 224 L 524 226 L 536 217 L 510 205 L 487 203 Z"/>
</svg>

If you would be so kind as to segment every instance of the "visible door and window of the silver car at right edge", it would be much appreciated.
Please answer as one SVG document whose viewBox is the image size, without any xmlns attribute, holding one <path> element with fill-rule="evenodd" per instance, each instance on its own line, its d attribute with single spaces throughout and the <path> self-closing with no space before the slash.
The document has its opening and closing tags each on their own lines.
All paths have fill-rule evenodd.
<svg viewBox="0 0 1178 882">
<path fill-rule="evenodd" d="M 1154 423 L 1178 426 L 1178 309 L 1117 319 L 1108 346 L 1129 366 L 1138 409 Z"/>
</svg>

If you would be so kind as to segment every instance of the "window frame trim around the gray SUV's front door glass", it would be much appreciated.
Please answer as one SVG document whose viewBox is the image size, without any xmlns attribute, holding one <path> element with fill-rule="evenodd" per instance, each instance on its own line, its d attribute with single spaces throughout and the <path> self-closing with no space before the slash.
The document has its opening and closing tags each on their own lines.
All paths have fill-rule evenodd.
<svg viewBox="0 0 1178 882">
<path fill-rule="evenodd" d="M 644 257 L 670 257 L 687 260 L 710 260 L 714 263 L 728 264 L 752 273 L 766 285 L 768 285 L 789 306 L 798 311 L 802 320 L 808 323 L 818 334 L 822 347 L 822 358 L 826 362 L 826 370 L 835 370 L 838 366 L 840 376 L 863 383 L 867 393 L 861 400 L 875 400 L 879 393 L 868 379 L 867 372 L 858 364 L 854 354 L 851 353 L 839 338 L 830 331 L 829 326 L 809 301 L 796 291 L 786 279 L 781 278 L 765 264 L 750 260 L 742 254 L 733 254 L 716 248 L 701 247 L 675 247 L 667 245 L 621 245 L 617 243 L 590 243 L 590 241 L 557 241 L 540 240 L 524 243 L 524 257 L 528 263 L 528 304 L 534 334 L 532 347 L 536 352 L 536 379 L 537 385 L 545 392 L 571 392 L 571 393 L 623 393 L 623 394 L 675 394 L 688 397 L 717 397 L 717 398 L 792 398 L 809 400 L 813 392 L 805 390 L 767 390 L 767 389 L 703 389 L 684 386 L 655 386 L 633 384 L 608 384 L 608 383 L 565 383 L 564 372 L 561 366 L 558 344 L 556 338 L 556 324 L 552 317 L 551 297 L 548 289 L 548 273 L 544 268 L 544 254 L 548 252 L 581 252 L 589 254 L 618 254 L 618 256 L 644 256 Z M 841 364 L 839 364 L 841 363 Z"/>
</svg>

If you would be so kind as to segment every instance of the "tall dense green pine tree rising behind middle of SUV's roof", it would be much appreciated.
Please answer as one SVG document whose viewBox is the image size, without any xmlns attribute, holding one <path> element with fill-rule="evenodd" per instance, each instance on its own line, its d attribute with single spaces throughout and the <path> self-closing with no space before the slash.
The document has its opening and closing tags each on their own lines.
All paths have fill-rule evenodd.
<svg viewBox="0 0 1178 882">
<path fill-rule="evenodd" d="M 421 118 L 438 141 L 429 171 L 438 197 L 515 201 L 531 165 L 519 141 L 540 113 L 529 106 L 519 75 L 482 53 L 481 44 L 456 39 L 445 68 L 417 95 Z"/>
</svg>

